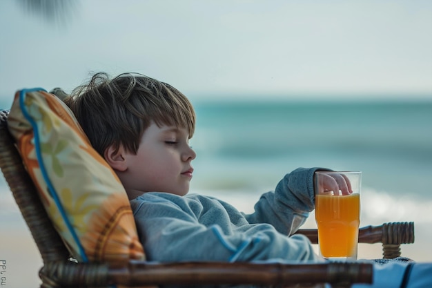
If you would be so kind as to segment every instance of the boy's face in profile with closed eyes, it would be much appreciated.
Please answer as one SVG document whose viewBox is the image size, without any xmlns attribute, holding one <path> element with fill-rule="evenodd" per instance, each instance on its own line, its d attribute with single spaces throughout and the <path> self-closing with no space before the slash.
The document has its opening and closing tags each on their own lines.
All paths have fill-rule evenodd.
<svg viewBox="0 0 432 288">
<path fill-rule="evenodd" d="M 143 192 L 186 195 L 195 157 L 186 128 L 159 128 L 153 122 L 142 135 L 137 154 L 124 153 L 127 169 L 119 177 L 130 198 Z"/>
</svg>

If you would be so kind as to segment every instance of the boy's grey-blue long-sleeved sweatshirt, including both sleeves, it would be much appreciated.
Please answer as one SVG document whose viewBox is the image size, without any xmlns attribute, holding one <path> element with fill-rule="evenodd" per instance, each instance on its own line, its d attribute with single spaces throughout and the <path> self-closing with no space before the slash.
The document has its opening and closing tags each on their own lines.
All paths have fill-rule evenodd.
<svg viewBox="0 0 432 288">
<path fill-rule="evenodd" d="M 244 214 L 216 198 L 149 192 L 130 202 L 150 261 L 254 261 L 320 258 L 302 235 L 291 235 L 314 209 L 313 174 L 296 169 Z M 323 169 L 320 169 L 323 170 Z"/>
</svg>

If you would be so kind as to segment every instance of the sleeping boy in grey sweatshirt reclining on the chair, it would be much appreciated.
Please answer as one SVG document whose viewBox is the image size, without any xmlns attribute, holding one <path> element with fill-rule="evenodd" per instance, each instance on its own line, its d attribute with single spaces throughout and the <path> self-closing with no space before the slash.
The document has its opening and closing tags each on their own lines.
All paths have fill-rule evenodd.
<svg viewBox="0 0 432 288">
<path fill-rule="evenodd" d="M 307 238 L 288 237 L 314 208 L 317 169 L 287 174 L 245 215 L 215 198 L 186 195 L 195 112 L 179 90 L 144 75 L 110 80 L 99 73 L 66 104 L 124 184 L 148 260 L 319 260 Z M 324 186 L 349 193 L 348 184 L 340 177 Z"/>
</svg>

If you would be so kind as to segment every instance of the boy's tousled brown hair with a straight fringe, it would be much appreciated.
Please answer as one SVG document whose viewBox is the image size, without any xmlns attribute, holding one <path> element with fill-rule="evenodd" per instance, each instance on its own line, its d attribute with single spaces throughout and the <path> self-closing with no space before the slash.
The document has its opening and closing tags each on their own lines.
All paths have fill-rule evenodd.
<svg viewBox="0 0 432 288">
<path fill-rule="evenodd" d="M 179 90 L 137 73 L 109 79 L 97 73 L 65 99 L 92 146 L 104 155 L 111 145 L 137 153 L 141 136 L 151 122 L 195 131 L 195 111 Z"/>
</svg>

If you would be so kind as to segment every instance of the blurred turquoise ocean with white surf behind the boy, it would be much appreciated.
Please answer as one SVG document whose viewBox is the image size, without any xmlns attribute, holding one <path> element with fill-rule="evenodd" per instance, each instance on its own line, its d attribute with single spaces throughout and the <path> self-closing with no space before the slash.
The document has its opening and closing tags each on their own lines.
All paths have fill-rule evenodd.
<svg viewBox="0 0 432 288">
<path fill-rule="evenodd" d="M 193 104 L 197 126 L 190 145 L 197 158 L 190 193 L 213 195 L 247 213 L 297 167 L 362 171 L 361 225 L 415 222 L 415 244 L 405 245 L 403 254 L 432 261 L 429 249 L 421 249 L 432 238 L 432 101 Z M 0 197 L 3 219 L 21 217 L 3 178 Z M 14 229 L 2 222 L 1 229 Z M 305 227 L 314 226 L 312 213 Z"/>
</svg>

